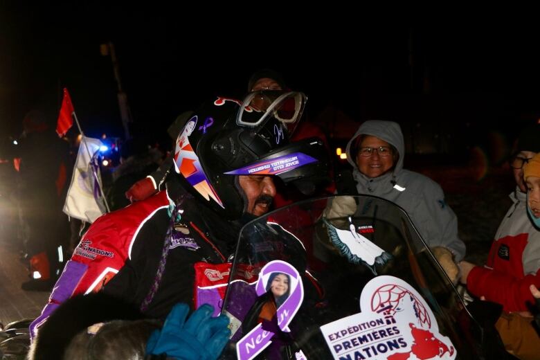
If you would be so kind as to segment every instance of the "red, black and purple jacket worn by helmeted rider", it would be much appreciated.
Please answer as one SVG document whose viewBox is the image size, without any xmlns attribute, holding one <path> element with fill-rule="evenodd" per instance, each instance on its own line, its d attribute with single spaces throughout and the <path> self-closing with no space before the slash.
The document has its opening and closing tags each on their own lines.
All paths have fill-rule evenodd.
<svg viewBox="0 0 540 360">
<path fill-rule="evenodd" d="M 30 325 L 31 335 L 35 336 L 37 327 L 61 303 L 77 294 L 102 289 L 140 305 L 156 276 L 173 204 L 164 190 L 96 219 L 66 263 L 42 314 Z M 231 264 L 216 245 L 226 248 L 223 240 L 216 244 L 210 241 L 216 233 L 211 228 L 221 229 L 222 238 L 227 235 L 222 230 L 224 226 L 231 226 L 223 221 L 217 224 L 219 219 L 204 213 L 195 201 L 185 201 L 185 205 L 181 217 L 187 230 L 167 240 L 171 244 L 165 271 L 147 309 L 148 316 L 165 318 L 179 301 L 193 307 L 212 303 L 219 313 Z M 188 213 L 197 216 L 191 221 Z"/>
</svg>

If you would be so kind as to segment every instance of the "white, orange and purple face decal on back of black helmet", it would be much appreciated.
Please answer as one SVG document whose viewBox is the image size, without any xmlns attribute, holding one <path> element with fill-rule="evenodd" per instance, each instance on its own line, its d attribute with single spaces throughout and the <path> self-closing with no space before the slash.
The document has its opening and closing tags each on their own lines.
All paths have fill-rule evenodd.
<svg viewBox="0 0 540 360">
<path fill-rule="evenodd" d="M 189 136 L 197 127 L 197 115 L 188 120 L 177 138 L 174 149 L 174 170 L 181 174 L 207 201 L 213 199 L 219 206 L 224 208 L 222 200 L 217 196 L 208 177 L 202 170 L 199 157 L 191 147 Z"/>
</svg>

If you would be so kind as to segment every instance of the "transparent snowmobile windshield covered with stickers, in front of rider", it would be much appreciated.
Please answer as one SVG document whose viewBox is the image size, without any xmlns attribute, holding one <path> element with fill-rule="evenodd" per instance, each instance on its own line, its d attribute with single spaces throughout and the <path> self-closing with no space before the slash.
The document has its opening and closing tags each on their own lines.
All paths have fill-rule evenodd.
<svg viewBox="0 0 540 360">
<path fill-rule="evenodd" d="M 350 212 L 325 216 L 336 201 Z M 478 323 L 411 219 L 377 197 L 303 201 L 246 224 L 222 314 L 224 358 L 481 357 Z"/>
</svg>

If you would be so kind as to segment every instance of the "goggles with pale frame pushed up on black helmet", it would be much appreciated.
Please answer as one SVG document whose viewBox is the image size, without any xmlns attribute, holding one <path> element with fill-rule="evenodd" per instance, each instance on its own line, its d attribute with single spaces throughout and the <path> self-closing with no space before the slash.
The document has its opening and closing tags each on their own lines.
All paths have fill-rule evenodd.
<svg viewBox="0 0 540 360">
<path fill-rule="evenodd" d="M 261 127 L 275 118 L 292 134 L 302 117 L 306 99 L 305 94 L 298 91 L 254 91 L 244 98 L 236 123 L 245 127 Z"/>
</svg>

